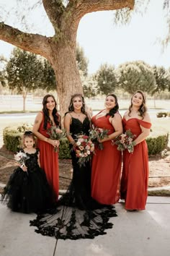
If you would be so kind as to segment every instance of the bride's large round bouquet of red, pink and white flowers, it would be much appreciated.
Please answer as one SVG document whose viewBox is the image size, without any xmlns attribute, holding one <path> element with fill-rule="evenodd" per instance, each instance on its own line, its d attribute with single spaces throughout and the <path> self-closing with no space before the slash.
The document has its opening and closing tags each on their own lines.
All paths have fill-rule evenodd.
<svg viewBox="0 0 170 256">
<path fill-rule="evenodd" d="M 79 158 L 79 166 L 84 166 L 94 153 L 94 143 L 91 142 L 89 136 L 78 135 L 78 140 L 73 145 L 73 150 L 76 152 L 76 157 Z"/>
</svg>

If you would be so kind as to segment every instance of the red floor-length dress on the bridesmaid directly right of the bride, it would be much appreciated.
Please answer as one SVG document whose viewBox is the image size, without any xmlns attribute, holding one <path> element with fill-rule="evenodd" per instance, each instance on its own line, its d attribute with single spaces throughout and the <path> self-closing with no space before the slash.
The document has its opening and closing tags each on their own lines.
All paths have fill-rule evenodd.
<svg viewBox="0 0 170 256">
<path fill-rule="evenodd" d="M 93 116 L 94 127 L 108 129 L 108 134 L 115 132 L 109 123 L 110 116 L 96 119 Z M 112 205 L 120 199 L 120 173 L 122 153 L 112 145 L 112 140 L 103 142 L 104 149 L 95 151 L 92 159 L 91 197 L 102 204 Z"/>
</svg>

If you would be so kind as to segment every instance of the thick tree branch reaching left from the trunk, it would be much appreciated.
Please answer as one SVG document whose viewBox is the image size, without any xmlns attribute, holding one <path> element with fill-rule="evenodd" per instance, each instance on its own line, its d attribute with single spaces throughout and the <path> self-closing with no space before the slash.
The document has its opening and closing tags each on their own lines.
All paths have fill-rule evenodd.
<svg viewBox="0 0 170 256">
<path fill-rule="evenodd" d="M 50 45 L 48 42 L 50 38 L 38 34 L 24 33 L 17 28 L 4 24 L 4 22 L 0 22 L 0 40 L 11 43 L 25 51 L 40 54 L 45 58 L 49 56 Z"/>
</svg>

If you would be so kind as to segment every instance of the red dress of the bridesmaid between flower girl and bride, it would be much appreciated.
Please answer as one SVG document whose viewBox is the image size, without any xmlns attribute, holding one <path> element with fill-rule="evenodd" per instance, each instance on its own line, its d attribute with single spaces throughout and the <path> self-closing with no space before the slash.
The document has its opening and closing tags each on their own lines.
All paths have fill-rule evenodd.
<svg viewBox="0 0 170 256">
<path fill-rule="evenodd" d="M 44 114 L 42 113 L 42 115 L 43 118 L 38 132 L 45 137 L 50 137 L 47 134 L 47 129 L 50 128 L 50 123 L 48 122 L 47 129 L 44 129 Z M 48 184 L 53 192 L 52 200 L 57 201 L 59 190 L 58 152 L 55 153 L 53 145 L 39 139 L 37 139 L 37 148 L 40 149 L 40 166 L 45 171 Z"/>
</svg>

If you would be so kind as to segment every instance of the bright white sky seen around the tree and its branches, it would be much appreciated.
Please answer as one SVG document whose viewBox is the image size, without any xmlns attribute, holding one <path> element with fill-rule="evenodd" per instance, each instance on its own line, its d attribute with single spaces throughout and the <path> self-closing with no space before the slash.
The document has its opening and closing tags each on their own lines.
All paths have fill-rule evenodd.
<svg viewBox="0 0 170 256">
<path fill-rule="evenodd" d="M 5 8 L 10 4 L 12 1 L 0 0 L 0 5 Z M 32 22 L 37 24 L 37 28 L 31 32 L 53 35 L 51 25 L 47 20 L 40 21 L 39 15 L 40 11 L 38 15 L 32 16 Z M 45 17 L 44 12 L 42 16 Z M 16 22 L 12 24 L 11 19 L 8 24 L 16 25 Z M 19 25 L 16 27 L 19 28 Z M 166 33 L 167 24 L 162 11 L 162 1 L 151 0 L 146 14 L 134 14 L 129 25 L 116 26 L 112 11 L 86 14 L 79 23 L 77 41 L 89 60 L 89 74 L 96 72 L 101 64 L 107 63 L 117 67 L 126 61 L 135 60 L 169 68 L 170 46 L 163 51 L 160 43 Z M 12 48 L 9 43 L 0 40 L 0 55 L 9 58 Z"/>
</svg>

